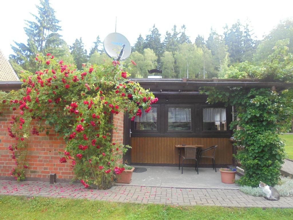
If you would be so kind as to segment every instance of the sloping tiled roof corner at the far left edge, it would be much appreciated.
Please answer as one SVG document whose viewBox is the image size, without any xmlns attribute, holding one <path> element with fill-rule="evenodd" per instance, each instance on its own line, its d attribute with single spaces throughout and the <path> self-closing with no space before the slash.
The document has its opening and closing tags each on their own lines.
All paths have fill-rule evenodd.
<svg viewBox="0 0 293 220">
<path fill-rule="evenodd" d="M 12 66 L 0 50 L 0 81 L 11 82 L 19 81 L 18 76 L 14 72 Z"/>
</svg>

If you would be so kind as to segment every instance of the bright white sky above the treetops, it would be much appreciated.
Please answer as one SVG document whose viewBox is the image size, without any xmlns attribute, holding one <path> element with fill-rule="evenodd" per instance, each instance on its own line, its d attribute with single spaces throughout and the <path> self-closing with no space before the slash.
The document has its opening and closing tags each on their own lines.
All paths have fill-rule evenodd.
<svg viewBox="0 0 293 220">
<path fill-rule="evenodd" d="M 163 40 L 166 31 L 171 31 L 176 24 L 178 31 L 185 24 L 186 34 L 192 42 L 198 34 L 205 40 L 213 27 L 223 33 L 223 27 L 230 27 L 240 19 L 247 19 L 258 39 L 268 34 L 280 20 L 292 18 L 293 1 L 89 1 L 89 0 L 50 0 L 51 7 L 62 26 L 63 39 L 72 45 L 76 38 L 82 37 L 85 48 L 93 46 L 97 35 L 103 41 L 109 33 L 115 32 L 117 16 L 117 32 L 125 35 L 134 45 L 139 34 L 143 38 L 155 24 Z M 30 13 L 37 15 L 35 4 L 39 0 L 0 0 L 0 49 L 6 57 L 13 53 L 10 44 L 13 40 L 26 43 L 28 37 L 23 27 L 24 20 L 32 21 Z"/>
</svg>

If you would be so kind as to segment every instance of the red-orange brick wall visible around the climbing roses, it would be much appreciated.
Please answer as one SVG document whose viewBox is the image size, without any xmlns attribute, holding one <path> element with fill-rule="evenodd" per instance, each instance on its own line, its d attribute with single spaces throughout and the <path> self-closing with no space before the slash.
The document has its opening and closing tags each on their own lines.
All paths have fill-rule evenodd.
<svg viewBox="0 0 293 220">
<path fill-rule="evenodd" d="M 14 138 L 8 135 L 7 128 L 10 126 L 11 116 L 16 112 L 4 111 L 0 115 L 0 179 L 11 179 L 10 172 L 15 167 L 12 159 L 12 151 L 8 150 L 8 146 L 16 143 Z M 32 126 L 36 122 L 32 122 Z M 112 141 L 117 145 L 123 144 L 123 113 L 113 116 L 115 131 L 112 131 Z M 27 162 L 29 164 L 26 170 L 27 180 L 49 181 L 49 175 L 56 173 L 58 182 L 68 182 L 74 177 L 70 169 L 70 163 L 59 163 L 61 154 L 64 152 L 65 142 L 62 137 L 58 137 L 53 130 L 49 135 L 40 133 L 39 136 L 31 135 L 28 140 Z M 122 154 L 122 151 L 120 152 Z M 117 161 L 117 162 L 122 162 Z"/>
</svg>

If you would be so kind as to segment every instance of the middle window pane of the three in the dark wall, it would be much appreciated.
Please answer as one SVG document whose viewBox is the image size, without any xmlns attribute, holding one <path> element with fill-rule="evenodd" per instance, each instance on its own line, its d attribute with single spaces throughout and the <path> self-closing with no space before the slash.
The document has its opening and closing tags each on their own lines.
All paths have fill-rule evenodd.
<svg viewBox="0 0 293 220">
<path fill-rule="evenodd" d="M 168 130 L 191 131 L 191 108 L 168 108 Z"/>
</svg>

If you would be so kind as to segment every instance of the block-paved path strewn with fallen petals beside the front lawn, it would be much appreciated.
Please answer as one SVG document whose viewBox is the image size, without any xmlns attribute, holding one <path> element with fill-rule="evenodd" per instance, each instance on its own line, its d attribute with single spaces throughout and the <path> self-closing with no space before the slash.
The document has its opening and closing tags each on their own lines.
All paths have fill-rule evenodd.
<svg viewBox="0 0 293 220">
<path fill-rule="evenodd" d="M 293 208 L 293 197 L 281 197 L 279 201 L 269 201 L 263 197 L 246 195 L 237 189 L 179 189 L 118 185 L 107 190 L 97 190 L 85 189 L 81 184 L 56 183 L 51 185 L 48 182 L 0 180 L 0 194 L 142 204 Z"/>
</svg>

